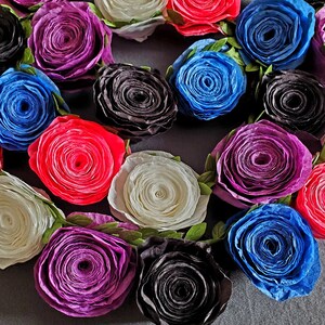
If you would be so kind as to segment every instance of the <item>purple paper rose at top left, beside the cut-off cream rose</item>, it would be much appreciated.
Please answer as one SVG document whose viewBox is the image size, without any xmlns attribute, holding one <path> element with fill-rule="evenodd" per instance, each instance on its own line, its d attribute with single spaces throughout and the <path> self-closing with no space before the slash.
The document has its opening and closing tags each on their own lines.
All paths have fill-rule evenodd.
<svg viewBox="0 0 325 325">
<path fill-rule="evenodd" d="M 113 63 L 112 31 L 87 2 L 47 2 L 31 25 L 28 46 L 35 66 L 55 82 L 72 88 L 81 81 L 88 84 L 99 64 Z"/>
</svg>

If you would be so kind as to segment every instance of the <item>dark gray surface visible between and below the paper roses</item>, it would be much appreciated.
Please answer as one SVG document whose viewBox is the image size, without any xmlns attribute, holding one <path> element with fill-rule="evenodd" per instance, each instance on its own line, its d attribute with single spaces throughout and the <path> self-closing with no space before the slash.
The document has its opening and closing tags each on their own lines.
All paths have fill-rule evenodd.
<svg viewBox="0 0 325 325">
<path fill-rule="evenodd" d="M 147 65 L 164 72 L 195 38 L 184 39 L 173 32 L 172 28 L 159 28 L 144 43 L 127 41 L 114 37 L 113 51 L 116 62 L 127 62 L 135 65 Z M 94 118 L 94 106 L 91 89 L 66 96 L 74 113 L 87 119 Z M 203 171 L 205 157 L 216 143 L 232 128 L 237 126 L 243 115 L 239 107 L 226 118 L 210 122 L 182 123 L 177 122 L 173 128 L 152 139 L 132 146 L 133 151 L 164 150 L 180 155 L 183 161 L 192 166 L 197 172 Z M 28 167 L 26 155 L 5 154 L 6 170 L 21 177 L 31 185 L 44 187 Z M 76 207 L 53 197 L 58 207 L 66 213 L 83 210 L 108 212 L 106 200 L 88 207 Z M 209 205 L 209 221 L 230 216 L 233 208 L 212 199 Z M 320 243 L 320 242 L 318 242 Z M 320 243 L 321 259 L 324 260 L 325 246 Z M 134 297 L 131 295 L 126 303 L 117 311 L 98 318 L 78 320 L 67 317 L 48 307 L 34 289 L 32 265 L 35 260 L 25 264 L 17 264 L 5 271 L 0 271 L 0 324 L 150 324 L 138 311 Z M 222 325 L 246 324 L 290 324 L 290 325 L 321 325 L 325 324 L 324 306 L 325 277 L 322 276 L 314 291 L 306 298 L 298 298 L 287 302 L 276 302 L 257 290 L 246 276 L 235 271 L 233 280 L 233 295 L 225 312 L 216 321 Z M 186 325 L 186 324 L 184 324 Z"/>
</svg>

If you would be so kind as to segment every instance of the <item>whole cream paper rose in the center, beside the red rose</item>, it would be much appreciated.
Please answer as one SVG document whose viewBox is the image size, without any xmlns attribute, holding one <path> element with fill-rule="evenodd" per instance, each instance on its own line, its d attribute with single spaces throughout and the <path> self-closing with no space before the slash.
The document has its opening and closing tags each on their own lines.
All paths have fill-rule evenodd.
<svg viewBox="0 0 325 325">
<path fill-rule="evenodd" d="M 112 182 L 110 212 L 118 220 L 161 231 L 200 223 L 210 196 L 202 195 L 197 178 L 169 153 L 133 153 Z"/>
</svg>

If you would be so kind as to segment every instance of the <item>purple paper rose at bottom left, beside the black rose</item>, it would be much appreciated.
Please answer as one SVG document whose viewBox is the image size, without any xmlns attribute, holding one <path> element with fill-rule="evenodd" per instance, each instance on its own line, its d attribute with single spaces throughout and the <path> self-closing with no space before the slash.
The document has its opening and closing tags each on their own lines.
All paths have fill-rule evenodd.
<svg viewBox="0 0 325 325">
<path fill-rule="evenodd" d="M 52 308 L 95 317 L 119 308 L 132 288 L 136 256 L 115 236 L 91 229 L 57 230 L 34 268 L 35 286 Z"/>
</svg>

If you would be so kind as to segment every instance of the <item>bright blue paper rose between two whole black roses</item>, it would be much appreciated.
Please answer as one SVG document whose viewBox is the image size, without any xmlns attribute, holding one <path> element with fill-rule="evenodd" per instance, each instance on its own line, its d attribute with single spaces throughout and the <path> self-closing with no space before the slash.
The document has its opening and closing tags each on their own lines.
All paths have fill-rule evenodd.
<svg viewBox="0 0 325 325">
<path fill-rule="evenodd" d="M 246 92 L 246 75 L 226 53 L 209 50 L 216 40 L 192 44 L 171 66 L 170 84 L 181 114 L 210 120 L 230 113 Z"/>
</svg>

